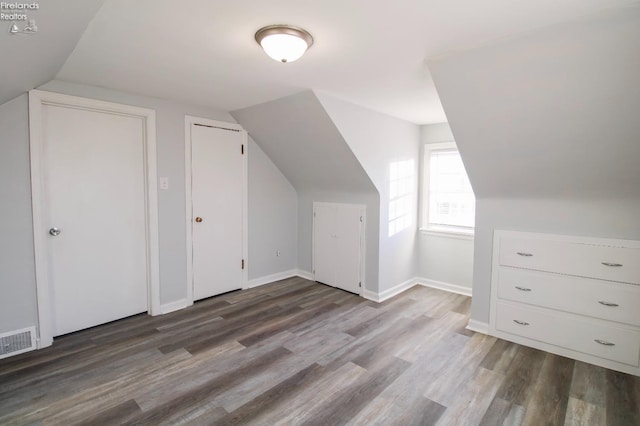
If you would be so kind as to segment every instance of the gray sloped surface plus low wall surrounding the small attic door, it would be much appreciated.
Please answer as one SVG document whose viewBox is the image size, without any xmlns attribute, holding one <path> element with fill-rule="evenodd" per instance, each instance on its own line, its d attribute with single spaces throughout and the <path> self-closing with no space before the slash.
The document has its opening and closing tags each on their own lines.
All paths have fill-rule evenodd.
<svg viewBox="0 0 640 426">
<path fill-rule="evenodd" d="M 366 289 L 378 289 L 379 198 L 316 95 L 304 91 L 232 115 L 273 160 L 298 194 L 298 268 L 312 271 L 313 201 L 365 204 Z"/>
</svg>

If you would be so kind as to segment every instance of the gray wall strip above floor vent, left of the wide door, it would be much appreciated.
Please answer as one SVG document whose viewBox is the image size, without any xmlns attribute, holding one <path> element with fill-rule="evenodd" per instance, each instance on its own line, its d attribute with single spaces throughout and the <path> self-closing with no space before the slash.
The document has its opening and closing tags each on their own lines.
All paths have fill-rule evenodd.
<svg viewBox="0 0 640 426">
<path fill-rule="evenodd" d="M 35 325 L 27 95 L 0 105 L 0 333 Z"/>
</svg>

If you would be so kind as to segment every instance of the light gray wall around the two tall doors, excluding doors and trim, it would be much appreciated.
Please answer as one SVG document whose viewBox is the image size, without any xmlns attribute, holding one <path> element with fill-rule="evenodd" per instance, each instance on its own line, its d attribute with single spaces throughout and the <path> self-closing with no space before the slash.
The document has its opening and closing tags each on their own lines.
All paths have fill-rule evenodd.
<svg viewBox="0 0 640 426">
<path fill-rule="evenodd" d="M 193 115 L 214 120 L 235 122 L 226 112 L 194 105 L 183 105 L 162 99 L 137 96 L 99 87 L 51 81 L 42 90 L 119 102 L 156 111 L 158 176 L 169 178 L 169 189 L 158 191 L 160 240 L 160 298 L 161 304 L 184 299 L 186 283 L 185 182 L 184 182 L 184 116 Z M 29 177 L 27 97 L 0 106 L 0 220 L 10 231 L 0 239 L 2 268 L 0 269 L 0 332 L 36 323 L 36 299 L 31 229 L 31 194 Z M 249 147 L 250 189 L 249 205 L 256 208 L 249 215 L 249 244 L 253 257 L 248 259 L 249 275 L 275 273 L 291 269 L 295 257 L 295 211 L 297 199 L 291 186 L 259 150 L 251 155 Z M 264 190 L 264 193 L 260 192 Z M 274 195 L 273 200 L 265 194 Z M 273 203 L 284 203 L 274 205 Z M 263 217 L 262 214 L 268 216 Z M 273 264 L 275 247 L 285 256 Z M 295 259 L 295 260 L 294 260 Z M 257 269 L 252 269 L 255 262 Z M 5 265 L 6 263 L 6 265 Z M 271 265 L 271 266 L 267 266 Z"/>
</svg>

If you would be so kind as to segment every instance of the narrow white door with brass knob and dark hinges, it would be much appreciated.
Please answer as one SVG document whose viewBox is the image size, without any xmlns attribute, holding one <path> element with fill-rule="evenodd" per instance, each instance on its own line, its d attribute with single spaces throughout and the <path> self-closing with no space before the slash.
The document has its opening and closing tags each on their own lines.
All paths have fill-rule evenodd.
<svg viewBox="0 0 640 426">
<path fill-rule="evenodd" d="M 193 299 L 242 288 L 242 132 L 191 125 Z"/>
</svg>

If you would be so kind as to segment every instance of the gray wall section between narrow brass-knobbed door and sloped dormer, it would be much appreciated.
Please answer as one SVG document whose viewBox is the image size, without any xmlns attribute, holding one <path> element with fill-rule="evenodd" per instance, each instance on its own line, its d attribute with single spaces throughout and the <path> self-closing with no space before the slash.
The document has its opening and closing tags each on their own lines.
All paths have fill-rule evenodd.
<svg viewBox="0 0 640 426">
<path fill-rule="evenodd" d="M 249 279 L 297 267 L 298 194 L 249 138 Z"/>
</svg>

